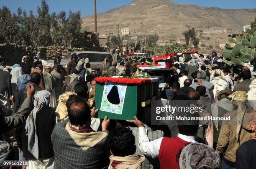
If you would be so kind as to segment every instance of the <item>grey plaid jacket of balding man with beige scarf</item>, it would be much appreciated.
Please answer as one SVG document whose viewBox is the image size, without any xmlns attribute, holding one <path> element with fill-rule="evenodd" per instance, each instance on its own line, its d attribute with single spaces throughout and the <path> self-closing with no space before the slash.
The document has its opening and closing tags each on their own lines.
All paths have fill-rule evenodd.
<svg viewBox="0 0 256 169">
<path fill-rule="evenodd" d="M 70 137 L 65 126 L 69 119 L 55 125 L 51 134 L 54 148 L 54 169 L 98 169 L 104 153 L 106 137 L 83 151 Z"/>
</svg>

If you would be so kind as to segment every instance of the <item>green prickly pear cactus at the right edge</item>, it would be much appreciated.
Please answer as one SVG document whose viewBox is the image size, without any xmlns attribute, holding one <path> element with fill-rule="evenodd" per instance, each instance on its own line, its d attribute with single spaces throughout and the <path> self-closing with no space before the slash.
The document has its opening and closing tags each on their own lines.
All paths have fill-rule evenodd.
<svg viewBox="0 0 256 169">
<path fill-rule="evenodd" d="M 243 65 L 256 58 L 256 31 L 253 35 L 248 33 L 242 37 L 236 36 L 236 39 L 229 38 L 228 42 L 236 43 L 234 47 L 226 43 L 223 57 L 228 65 Z"/>
</svg>

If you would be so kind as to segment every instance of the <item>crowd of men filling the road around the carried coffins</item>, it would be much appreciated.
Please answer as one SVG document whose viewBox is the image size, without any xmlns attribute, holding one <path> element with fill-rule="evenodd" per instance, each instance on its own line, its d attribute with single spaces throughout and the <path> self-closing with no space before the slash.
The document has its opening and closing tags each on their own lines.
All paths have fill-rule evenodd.
<svg viewBox="0 0 256 169">
<path fill-rule="evenodd" d="M 153 55 L 135 59 L 128 55 L 132 48 L 125 47 L 115 47 L 113 61 L 105 58 L 100 71 L 75 54 L 65 68 L 61 54 L 52 67 L 40 53 L 33 63 L 24 56 L 20 64 L 0 67 L 0 161 L 28 161 L 22 168 L 32 169 L 255 168 L 256 73 L 251 63 L 230 72 L 214 51 L 210 57 L 195 53 L 169 59 L 171 72 L 159 100 L 188 101 L 203 107 L 207 116 L 232 117 L 222 124 L 178 120 L 154 126 L 149 111 L 134 120 L 99 119 L 95 77 L 136 76 L 136 65 L 154 65 Z M 175 115 L 201 117 L 200 112 Z M 14 138 L 18 150 L 11 146 Z"/>
</svg>

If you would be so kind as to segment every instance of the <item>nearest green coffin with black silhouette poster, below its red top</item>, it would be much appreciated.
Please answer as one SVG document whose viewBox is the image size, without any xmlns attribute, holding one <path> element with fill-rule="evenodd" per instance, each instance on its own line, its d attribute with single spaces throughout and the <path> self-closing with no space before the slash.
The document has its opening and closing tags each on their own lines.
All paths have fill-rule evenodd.
<svg viewBox="0 0 256 169">
<path fill-rule="evenodd" d="M 109 101 L 105 102 L 105 99 L 102 99 L 102 96 L 105 94 L 104 89 L 106 89 L 104 88 L 105 82 L 96 82 L 95 108 L 99 109 L 98 118 L 103 119 L 105 116 L 107 116 L 108 119 L 133 120 L 134 116 L 137 116 L 141 112 L 142 102 L 151 100 L 152 97 L 157 96 L 159 93 L 158 81 L 151 82 L 151 83 L 142 83 L 142 84 L 119 84 L 119 85 L 126 85 L 126 92 L 125 92 L 125 97 L 123 99 L 123 104 L 114 105 L 114 106 L 118 106 L 118 108 L 120 105 L 123 107 L 121 114 L 104 111 L 102 109 L 102 107 L 109 108 L 113 104 L 110 104 Z M 106 96 L 104 98 L 106 98 Z M 110 97 L 108 99 L 112 99 L 112 98 Z M 111 109 L 114 109 L 114 108 L 112 107 Z"/>
</svg>

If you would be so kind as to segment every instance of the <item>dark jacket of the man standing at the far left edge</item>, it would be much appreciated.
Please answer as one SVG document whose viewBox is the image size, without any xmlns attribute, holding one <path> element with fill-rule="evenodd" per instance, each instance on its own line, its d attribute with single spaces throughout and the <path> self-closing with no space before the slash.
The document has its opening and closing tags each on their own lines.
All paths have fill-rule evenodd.
<svg viewBox="0 0 256 169">
<path fill-rule="evenodd" d="M 8 97 L 13 94 L 11 79 L 12 75 L 9 72 L 0 70 L 0 94 L 5 95 L 5 91 L 7 91 Z"/>
</svg>

